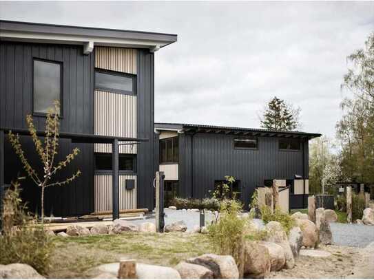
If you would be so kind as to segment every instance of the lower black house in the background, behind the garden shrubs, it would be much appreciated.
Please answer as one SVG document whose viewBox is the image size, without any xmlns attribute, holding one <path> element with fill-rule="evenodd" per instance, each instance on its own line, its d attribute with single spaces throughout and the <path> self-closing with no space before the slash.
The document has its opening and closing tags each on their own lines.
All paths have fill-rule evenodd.
<svg viewBox="0 0 374 280">
<path fill-rule="evenodd" d="M 308 143 L 318 133 L 171 123 L 156 123 L 155 131 L 168 197 L 208 197 L 232 175 L 245 206 L 257 187 L 274 179 L 289 186 L 291 208 L 307 206 Z"/>
</svg>

